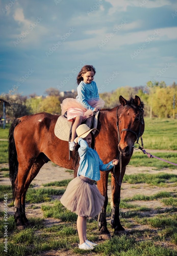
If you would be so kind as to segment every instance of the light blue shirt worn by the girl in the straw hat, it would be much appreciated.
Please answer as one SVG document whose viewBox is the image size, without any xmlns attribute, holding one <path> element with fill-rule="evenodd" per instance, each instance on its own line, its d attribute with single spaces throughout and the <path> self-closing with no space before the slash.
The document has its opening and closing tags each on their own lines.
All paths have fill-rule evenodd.
<svg viewBox="0 0 177 256">
<path fill-rule="evenodd" d="M 80 161 L 77 176 L 83 175 L 93 180 L 100 180 L 99 170 L 110 170 L 114 166 L 112 161 L 108 164 L 103 164 L 98 153 L 91 147 L 88 147 L 88 144 L 82 138 L 78 139 L 78 144 L 80 145 L 78 149 Z M 106 169 L 108 165 L 110 166 Z"/>
</svg>

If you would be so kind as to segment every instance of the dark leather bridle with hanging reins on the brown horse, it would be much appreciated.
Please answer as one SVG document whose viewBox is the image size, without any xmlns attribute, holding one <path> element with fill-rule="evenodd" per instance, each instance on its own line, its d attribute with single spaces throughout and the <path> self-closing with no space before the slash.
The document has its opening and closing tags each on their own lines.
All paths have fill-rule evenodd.
<svg viewBox="0 0 177 256">
<path fill-rule="evenodd" d="M 127 105 L 125 105 L 124 108 L 125 108 L 126 106 L 127 106 Z M 118 111 L 118 109 L 119 109 L 119 106 L 118 106 L 118 108 L 117 108 L 117 111 Z M 138 127 L 138 131 L 137 131 L 137 132 L 134 132 L 134 131 L 132 131 L 132 130 L 130 130 L 130 129 L 126 129 L 126 128 L 121 130 L 121 134 L 122 134 L 123 131 L 127 131 L 127 132 L 131 132 L 131 133 L 133 133 L 134 135 L 136 135 L 136 142 L 135 142 L 134 145 L 133 145 L 134 148 L 135 148 L 135 144 L 138 144 L 138 145 L 139 145 L 138 148 L 140 147 L 140 144 L 138 143 L 138 141 L 139 141 L 139 138 L 140 138 L 141 125 L 144 124 L 144 123 L 143 123 L 143 112 L 144 112 L 144 111 L 143 111 L 143 108 L 139 108 L 139 107 L 138 107 L 138 109 L 141 111 L 141 115 L 140 115 L 140 124 L 139 124 L 139 127 Z M 120 133 L 119 133 L 119 122 L 118 122 L 117 111 L 116 111 L 116 119 L 117 119 L 116 126 L 117 126 L 118 144 L 119 144 L 119 142 L 120 142 Z M 135 149 L 138 149 L 138 148 L 135 148 Z M 121 184 L 122 184 L 122 181 L 121 181 L 122 156 L 121 156 L 121 154 L 120 154 L 120 151 L 118 152 L 117 159 L 119 159 L 119 164 L 120 164 L 120 176 L 119 176 L 119 180 L 117 181 L 117 178 L 116 178 L 116 176 L 115 176 L 115 165 L 114 165 L 114 167 L 113 167 L 113 177 L 115 178 L 116 183 L 117 183 L 119 186 L 121 186 Z"/>
</svg>

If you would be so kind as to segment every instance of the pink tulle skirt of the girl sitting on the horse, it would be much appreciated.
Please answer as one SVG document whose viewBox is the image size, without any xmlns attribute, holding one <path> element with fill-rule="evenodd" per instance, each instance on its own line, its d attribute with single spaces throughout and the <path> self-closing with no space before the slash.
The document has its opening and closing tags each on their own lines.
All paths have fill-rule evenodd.
<svg viewBox="0 0 177 256">
<path fill-rule="evenodd" d="M 100 98 L 92 98 L 87 101 L 87 103 L 93 108 L 103 108 L 104 100 Z M 76 116 L 83 116 L 83 121 L 93 115 L 93 111 L 90 109 L 84 108 L 81 103 L 73 98 L 66 98 L 61 103 L 61 114 L 64 115 L 67 111 L 68 121 L 72 121 Z"/>
</svg>

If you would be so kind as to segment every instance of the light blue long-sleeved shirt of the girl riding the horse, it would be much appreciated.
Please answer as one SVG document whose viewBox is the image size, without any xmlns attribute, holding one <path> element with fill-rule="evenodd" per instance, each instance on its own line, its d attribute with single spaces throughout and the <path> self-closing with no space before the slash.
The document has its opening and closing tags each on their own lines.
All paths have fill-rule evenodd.
<svg viewBox="0 0 177 256">
<path fill-rule="evenodd" d="M 84 108 L 94 111 L 94 108 L 92 108 L 87 103 L 87 100 L 91 98 L 99 98 L 96 83 L 94 81 L 92 81 L 91 83 L 84 83 L 84 81 L 81 81 L 77 87 L 77 91 L 78 95 L 76 96 L 76 99 L 82 104 Z"/>
</svg>

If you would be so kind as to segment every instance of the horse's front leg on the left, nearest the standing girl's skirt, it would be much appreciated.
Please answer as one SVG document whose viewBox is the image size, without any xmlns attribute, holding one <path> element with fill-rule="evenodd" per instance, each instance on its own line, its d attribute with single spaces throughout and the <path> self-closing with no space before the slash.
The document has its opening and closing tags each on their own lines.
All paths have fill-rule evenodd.
<svg viewBox="0 0 177 256">
<path fill-rule="evenodd" d="M 107 222 L 106 222 L 106 207 L 108 204 L 108 194 L 107 194 L 107 186 L 108 186 L 108 175 L 109 171 L 100 172 L 100 180 L 97 181 L 97 187 L 105 197 L 104 206 L 102 208 L 102 212 L 98 215 L 98 228 L 100 231 L 100 238 L 101 239 L 110 239 L 110 233 L 107 229 Z"/>
</svg>

